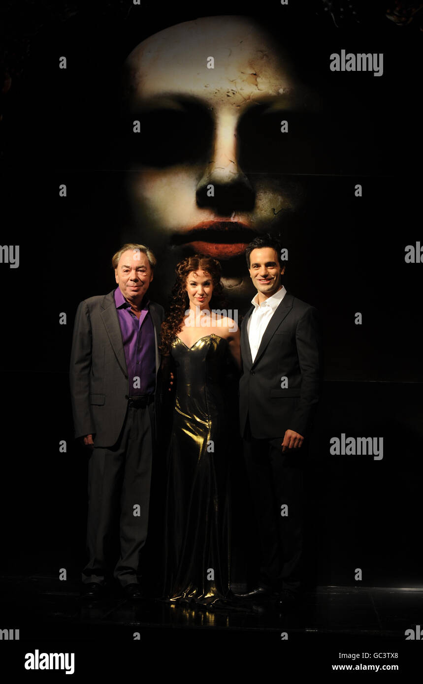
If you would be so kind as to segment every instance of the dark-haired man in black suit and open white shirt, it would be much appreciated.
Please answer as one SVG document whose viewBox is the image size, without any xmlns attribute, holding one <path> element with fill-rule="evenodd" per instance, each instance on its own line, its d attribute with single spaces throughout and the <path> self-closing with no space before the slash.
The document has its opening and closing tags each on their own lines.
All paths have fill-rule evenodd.
<svg viewBox="0 0 423 684">
<path fill-rule="evenodd" d="M 319 398 L 316 308 L 287 293 L 281 247 L 270 235 L 246 248 L 257 289 L 241 328 L 240 428 L 261 542 L 259 586 L 244 598 L 300 592 L 303 459 Z"/>
</svg>

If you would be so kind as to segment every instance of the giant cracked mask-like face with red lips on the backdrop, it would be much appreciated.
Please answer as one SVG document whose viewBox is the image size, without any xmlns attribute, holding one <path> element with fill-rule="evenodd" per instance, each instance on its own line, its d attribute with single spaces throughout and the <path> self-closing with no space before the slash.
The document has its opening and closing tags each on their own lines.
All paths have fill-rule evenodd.
<svg viewBox="0 0 423 684">
<path fill-rule="evenodd" d="M 136 224 L 158 252 L 220 259 L 223 285 L 245 289 L 246 244 L 279 231 L 297 202 L 281 174 L 295 156 L 281 120 L 301 99 L 290 65 L 253 21 L 222 16 L 160 31 L 126 66 Z"/>
</svg>

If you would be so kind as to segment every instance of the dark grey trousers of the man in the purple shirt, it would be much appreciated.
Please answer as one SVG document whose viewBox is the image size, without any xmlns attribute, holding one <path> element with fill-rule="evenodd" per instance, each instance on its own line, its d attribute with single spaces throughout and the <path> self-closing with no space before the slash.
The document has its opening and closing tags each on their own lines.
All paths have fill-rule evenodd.
<svg viewBox="0 0 423 684">
<path fill-rule="evenodd" d="M 140 551 L 149 521 L 154 403 L 128 406 L 118 442 L 94 447 L 88 462 L 88 564 L 82 581 L 104 583 L 107 547 L 120 516 L 120 557 L 114 577 L 122 586 L 138 582 Z M 138 508 L 139 507 L 139 508 Z"/>
</svg>

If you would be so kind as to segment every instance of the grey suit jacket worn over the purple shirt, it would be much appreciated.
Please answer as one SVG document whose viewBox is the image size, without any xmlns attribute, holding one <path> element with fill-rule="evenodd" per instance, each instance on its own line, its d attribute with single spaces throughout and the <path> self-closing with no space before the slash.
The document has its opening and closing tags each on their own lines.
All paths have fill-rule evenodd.
<svg viewBox="0 0 423 684">
<path fill-rule="evenodd" d="M 155 335 L 155 417 L 159 412 L 159 340 L 164 310 L 150 302 Z M 81 302 L 71 352 L 71 399 L 75 437 L 94 434 L 96 447 L 118 440 L 128 405 L 128 371 L 114 290 Z"/>
</svg>

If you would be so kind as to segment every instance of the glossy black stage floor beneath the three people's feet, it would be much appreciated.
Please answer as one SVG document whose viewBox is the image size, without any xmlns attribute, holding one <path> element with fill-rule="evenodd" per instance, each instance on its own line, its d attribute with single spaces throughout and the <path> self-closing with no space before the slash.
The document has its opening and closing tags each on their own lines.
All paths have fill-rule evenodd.
<svg viewBox="0 0 423 684">
<path fill-rule="evenodd" d="M 272 604 L 248 604 L 231 609 L 194 609 L 145 598 L 131 602 L 114 590 L 99 602 L 79 598 L 78 581 L 52 577 L 1 577 L 4 629 L 21 627 L 20 639 L 34 637 L 77 640 L 107 637 L 127 639 L 128 632 L 200 630 L 248 633 L 287 630 L 290 635 L 357 635 L 405 639 L 405 630 L 423 622 L 423 588 L 318 586 L 306 592 L 294 611 L 283 613 Z M 7 623 L 7 624 L 6 624 Z M 13 624 L 12 624 L 13 623 Z M 26 634 L 25 630 L 29 633 Z M 423 631 L 423 625 L 422 625 Z"/>
</svg>

